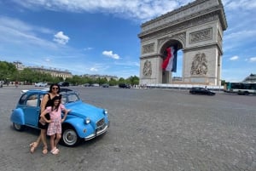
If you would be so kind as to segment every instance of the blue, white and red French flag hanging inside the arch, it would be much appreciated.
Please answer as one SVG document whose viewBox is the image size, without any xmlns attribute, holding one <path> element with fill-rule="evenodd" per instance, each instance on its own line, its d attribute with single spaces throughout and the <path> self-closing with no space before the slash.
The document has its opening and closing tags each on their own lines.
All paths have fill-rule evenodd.
<svg viewBox="0 0 256 171">
<path fill-rule="evenodd" d="M 174 71 L 177 70 L 177 50 L 173 46 L 166 48 L 167 56 L 166 60 L 163 61 L 162 68 L 165 71 Z"/>
</svg>

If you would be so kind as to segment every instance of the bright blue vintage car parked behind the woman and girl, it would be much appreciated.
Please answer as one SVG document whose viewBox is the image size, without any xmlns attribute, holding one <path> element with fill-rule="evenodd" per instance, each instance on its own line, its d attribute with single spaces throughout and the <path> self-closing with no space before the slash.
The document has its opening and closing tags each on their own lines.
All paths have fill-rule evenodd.
<svg viewBox="0 0 256 171">
<path fill-rule="evenodd" d="M 18 131 L 26 127 L 38 128 L 40 102 L 47 89 L 21 91 L 21 97 L 12 111 L 10 121 Z M 61 103 L 71 109 L 62 123 L 61 144 L 75 146 L 80 140 L 91 140 L 107 132 L 108 111 L 94 105 L 84 103 L 79 94 L 71 89 L 61 88 Z"/>
</svg>

